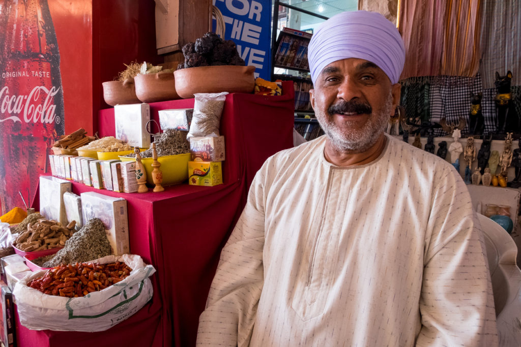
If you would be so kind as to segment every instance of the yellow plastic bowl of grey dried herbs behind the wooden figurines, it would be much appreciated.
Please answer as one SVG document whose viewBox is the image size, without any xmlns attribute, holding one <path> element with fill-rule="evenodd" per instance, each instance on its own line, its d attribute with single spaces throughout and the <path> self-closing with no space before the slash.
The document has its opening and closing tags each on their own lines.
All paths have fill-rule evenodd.
<svg viewBox="0 0 521 347">
<path fill-rule="evenodd" d="M 131 157 L 119 157 L 121 161 L 135 161 Z M 142 158 L 141 162 L 145 166 L 146 182 L 152 182 L 152 158 Z M 176 156 L 157 157 L 157 161 L 161 164 L 159 170 L 163 172 L 163 183 L 161 185 L 167 186 L 170 184 L 178 184 L 188 179 L 188 162 L 190 161 L 190 153 L 178 154 Z"/>
</svg>

